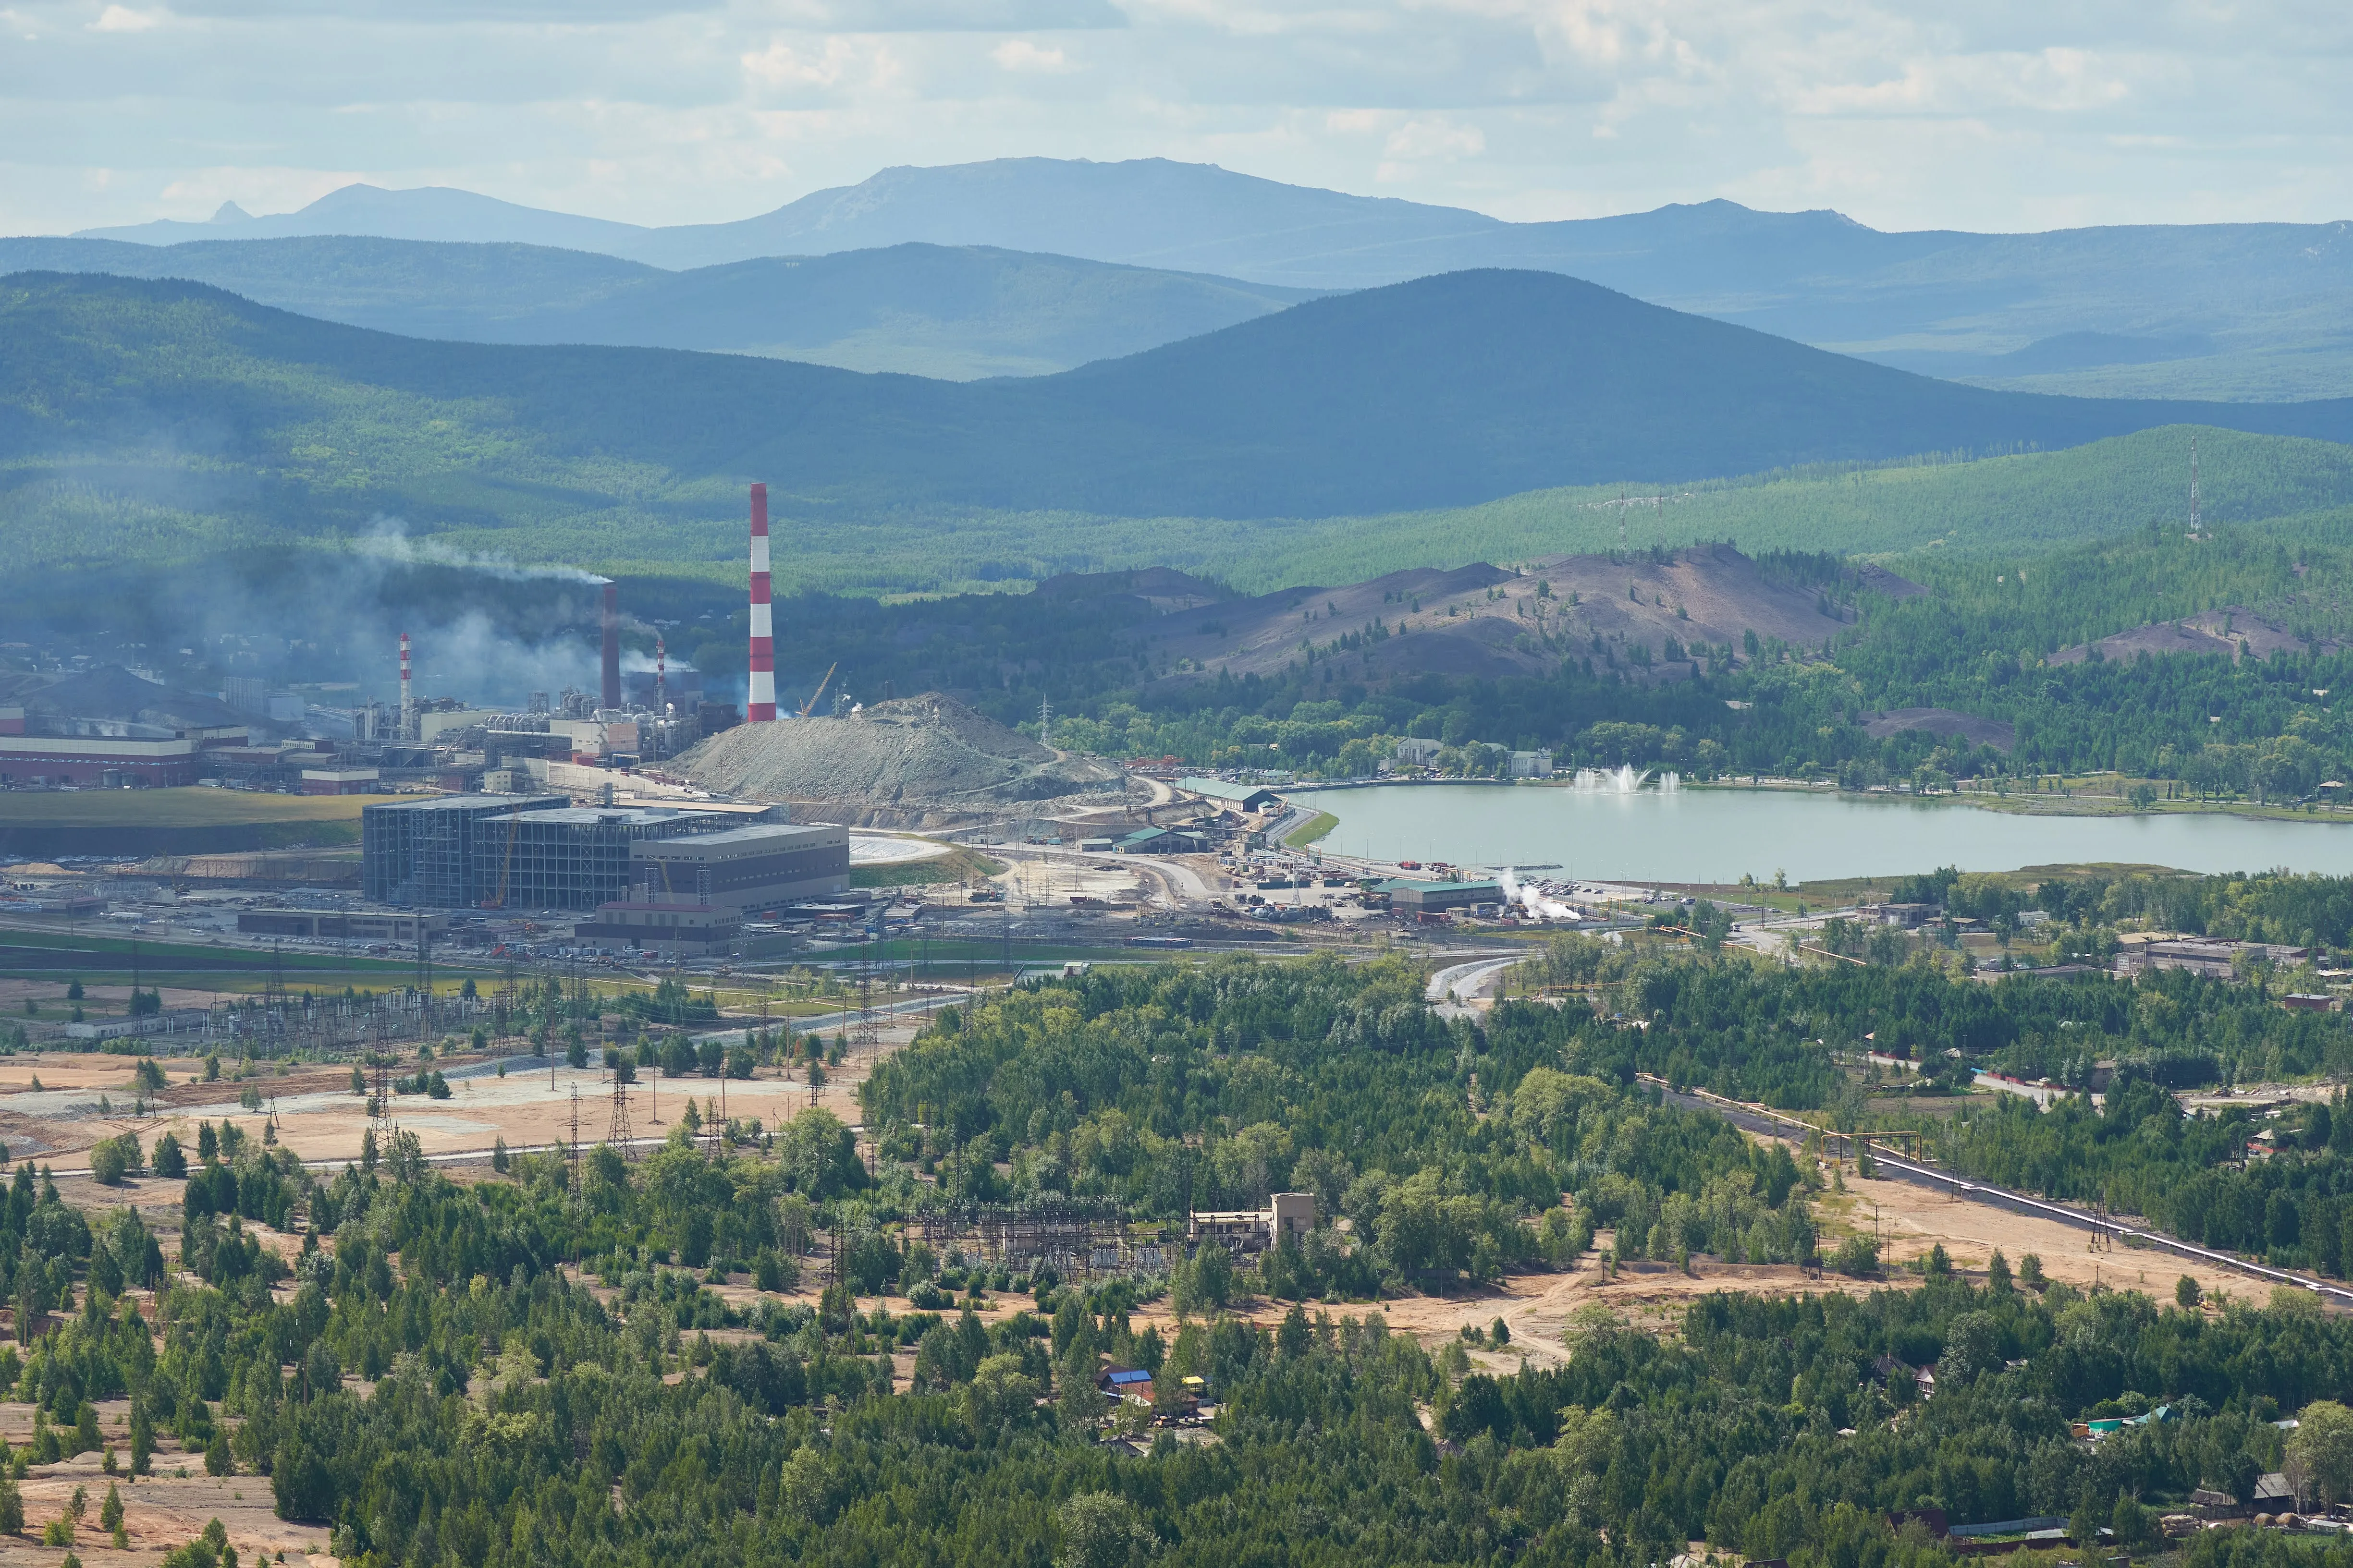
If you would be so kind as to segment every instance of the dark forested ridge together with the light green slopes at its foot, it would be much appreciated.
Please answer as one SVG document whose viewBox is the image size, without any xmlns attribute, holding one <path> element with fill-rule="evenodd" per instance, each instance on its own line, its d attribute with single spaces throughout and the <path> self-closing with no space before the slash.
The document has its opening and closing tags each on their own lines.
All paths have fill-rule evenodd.
<svg viewBox="0 0 2353 1568">
<path fill-rule="evenodd" d="M 2179 418 L 2334 430 L 2353 409 L 1984 393 L 1534 273 L 1311 301 L 974 386 L 438 343 L 186 282 L 19 275 L 0 284 L 0 564 L 400 520 L 515 559 L 734 576 L 753 477 L 772 482 L 779 585 L 859 592 L 1115 564 L 1273 585 L 1520 559 L 1617 543 L 1619 512 L 1598 503 L 1628 473 L 1715 475 L 1631 512 L 1635 543 L 2009 548 L 2179 515 L 2186 433 L 2101 440 Z M 1882 463 L 1955 444 L 2071 449 Z M 2205 451 L 2217 517 L 2353 498 L 2344 447 L 2217 433 Z"/>
</svg>

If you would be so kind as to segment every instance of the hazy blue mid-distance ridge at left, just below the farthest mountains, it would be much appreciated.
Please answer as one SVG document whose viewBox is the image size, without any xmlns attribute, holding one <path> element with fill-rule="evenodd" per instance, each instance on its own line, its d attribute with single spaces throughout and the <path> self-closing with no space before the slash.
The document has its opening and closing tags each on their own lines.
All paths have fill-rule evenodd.
<svg viewBox="0 0 2353 1568">
<path fill-rule="evenodd" d="M 666 273 L 515 242 L 0 240 L 0 273 L 14 270 L 188 277 L 421 339 L 701 348 L 946 381 L 1042 376 L 1315 299 L 1231 277 L 941 244 Z"/>
</svg>

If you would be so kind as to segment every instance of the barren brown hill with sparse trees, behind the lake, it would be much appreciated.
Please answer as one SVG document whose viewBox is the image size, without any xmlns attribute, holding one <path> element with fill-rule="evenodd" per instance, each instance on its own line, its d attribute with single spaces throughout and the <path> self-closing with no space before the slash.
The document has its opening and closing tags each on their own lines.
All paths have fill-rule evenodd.
<svg viewBox="0 0 2353 1568">
<path fill-rule="evenodd" d="M 1873 592 L 1920 592 L 1878 571 Z M 1758 642 L 1817 649 L 1852 611 L 1767 574 L 1732 545 L 1657 555 L 1555 555 L 1518 571 L 1393 571 L 1348 588 L 1285 588 L 1165 616 L 1144 628 L 1176 679 L 1273 675 L 1294 661 L 1346 679 L 1537 675 L 1562 658 L 1682 679 L 1701 661 L 1746 658 Z"/>
</svg>

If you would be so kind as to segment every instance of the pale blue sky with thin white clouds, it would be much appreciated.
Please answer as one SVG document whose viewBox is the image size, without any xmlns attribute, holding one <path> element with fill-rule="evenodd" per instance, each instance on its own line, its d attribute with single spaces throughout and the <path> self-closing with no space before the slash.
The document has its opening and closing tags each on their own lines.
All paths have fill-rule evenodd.
<svg viewBox="0 0 2353 1568">
<path fill-rule="evenodd" d="M 2353 219 L 2344 0 L 0 0 L 0 233 L 1176 158 L 1504 219 Z"/>
</svg>

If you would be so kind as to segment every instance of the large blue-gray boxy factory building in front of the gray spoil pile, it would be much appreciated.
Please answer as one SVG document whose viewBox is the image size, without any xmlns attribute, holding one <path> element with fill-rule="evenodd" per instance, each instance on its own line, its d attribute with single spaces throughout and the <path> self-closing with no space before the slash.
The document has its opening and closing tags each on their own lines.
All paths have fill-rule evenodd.
<svg viewBox="0 0 2353 1568">
<path fill-rule="evenodd" d="M 362 889 L 424 907 L 741 912 L 849 886 L 849 832 L 741 811 L 449 795 L 360 813 Z"/>
</svg>

